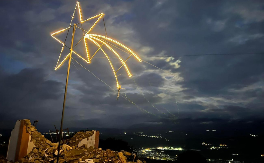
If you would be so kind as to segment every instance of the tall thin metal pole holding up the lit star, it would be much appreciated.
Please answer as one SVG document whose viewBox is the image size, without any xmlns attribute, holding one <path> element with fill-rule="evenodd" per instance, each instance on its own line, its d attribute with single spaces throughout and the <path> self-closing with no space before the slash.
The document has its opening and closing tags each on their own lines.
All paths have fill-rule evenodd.
<svg viewBox="0 0 264 163">
<path fill-rule="evenodd" d="M 60 146 L 61 146 L 61 136 L 62 136 L 62 125 L 63 125 L 63 117 L 64 117 L 64 108 L 65 108 L 65 102 L 66 102 L 66 95 L 67 95 L 67 87 L 68 87 L 68 78 L 70 73 L 70 66 L 71 66 L 71 53 L 72 53 L 72 45 L 74 40 L 74 33 L 75 33 L 76 24 L 73 25 L 73 31 L 72 31 L 72 37 L 71 37 L 71 51 L 70 51 L 70 57 L 69 57 L 69 63 L 68 63 L 68 72 L 66 77 L 66 85 L 65 85 L 65 92 L 64 92 L 64 100 L 63 100 L 63 107 L 62 107 L 62 115 L 61 115 L 61 129 L 60 129 L 60 137 L 59 137 L 59 145 L 58 145 L 58 153 L 57 153 L 57 163 L 59 162 L 60 158 Z"/>
</svg>

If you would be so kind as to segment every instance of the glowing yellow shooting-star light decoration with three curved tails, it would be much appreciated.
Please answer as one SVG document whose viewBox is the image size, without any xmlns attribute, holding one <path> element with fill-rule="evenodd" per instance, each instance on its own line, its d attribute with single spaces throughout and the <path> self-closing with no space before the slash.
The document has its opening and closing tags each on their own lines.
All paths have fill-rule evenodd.
<svg viewBox="0 0 264 163">
<path fill-rule="evenodd" d="M 127 52 L 127 53 L 129 53 L 130 54 L 130 56 L 131 55 L 133 55 L 135 58 L 137 58 L 137 60 L 139 61 L 139 62 L 141 62 L 141 59 L 132 51 L 132 50 L 130 50 L 129 48 L 127 48 L 125 45 L 123 45 L 123 44 L 121 44 L 120 42 L 117 42 L 116 40 L 113 40 L 113 39 L 111 39 L 111 38 L 108 38 L 107 36 L 105 37 L 105 36 L 102 36 L 102 35 L 96 35 L 96 34 L 91 34 L 90 32 L 91 32 L 91 30 L 92 30 L 92 28 L 94 28 L 95 27 L 95 25 L 96 25 L 96 23 L 98 23 L 99 22 L 99 20 L 101 19 L 101 18 L 103 18 L 103 13 L 100 13 L 100 14 L 98 14 L 98 15 L 95 15 L 95 16 L 93 16 L 93 17 L 91 17 L 91 18 L 88 18 L 88 19 L 86 19 L 86 20 L 83 20 L 82 19 L 82 10 L 81 10 L 81 6 L 80 6 L 80 3 L 79 2 L 77 2 L 77 4 L 76 4 L 76 6 L 75 6 L 75 9 L 74 9 L 74 12 L 73 12 L 73 15 L 72 15 L 72 18 L 71 18 L 71 22 L 70 22 L 70 25 L 69 25 L 69 27 L 68 28 L 64 28 L 64 29 L 61 29 L 61 30 L 59 30 L 59 31 L 57 31 L 57 32 L 54 32 L 54 33 L 52 33 L 51 34 L 51 36 L 53 37 L 53 38 L 55 38 L 58 42 L 60 42 L 61 44 L 62 44 L 62 48 L 61 48 L 61 53 L 60 53 L 60 55 L 59 55 L 59 59 L 58 59 L 58 61 L 57 61 L 57 64 L 56 64 L 56 67 L 55 67 L 55 70 L 57 70 L 68 58 L 69 58 L 69 56 L 70 56 L 70 53 L 60 62 L 60 58 L 61 58 L 61 54 L 62 54 L 62 52 L 63 52 L 63 50 L 64 50 L 64 48 L 65 48 L 65 42 L 62 42 L 61 40 L 59 40 L 58 38 L 56 38 L 54 35 L 57 35 L 57 34 L 59 34 L 59 33 L 61 33 L 61 32 L 64 32 L 64 31 L 66 31 L 67 29 L 69 30 L 69 28 L 71 28 L 72 26 L 71 26 L 71 23 L 72 23 L 72 20 L 73 20 L 73 18 L 74 18 L 74 15 L 75 15 L 75 11 L 76 11 L 76 8 L 77 8 L 77 6 L 78 6 L 78 11 L 79 11 L 79 19 L 80 19 L 80 23 L 82 24 L 82 23 L 84 23 L 84 22 L 86 22 L 86 21 L 89 21 L 89 20 L 91 20 L 91 19 L 94 19 L 94 18 L 98 18 L 97 20 L 96 20 L 96 22 L 92 25 L 92 27 L 88 30 L 88 31 L 85 31 L 85 30 L 83 30 L 82 28 L 80 28 L 80 29 L 82 29 L 84 32 L 85 32 L 85 34 L 84 34 L 84 37 L 83 37 L 83 42 L 84 42 L 84 45 L 85 45 L 85 51 L 86 51 L 86 55 L 87 55 L 87 58 L 85 59 L 85 58 L 83 58 L 81 55 L 79 55 L 79 54 L 77 54 L 75 51 L 72 51 L 75 55 L 77 55 L 78 57 L 80 57 L 80 58 L 82 58 L 85 62 L 87 62 L 87 63 L 91 63 L 91 60 L 92 60 L 92 58 L 94 57 L 94 55 L 96 54 L 94 54 L 94 55 L 92 55 L 92 58 L 90 58 L 90 56 L 89 56 L 89 49 L 88 49 L 88 45 L 87 45 L 87 40 L 90 40 L 91 42 L 93 42 L 96 46 L 98 46 L 99 48 L 98 48 L 98 50 L 100 49 L 103 53 L 104 53 L 104 55 L 106 56 L 106 58 L 108 59 L 108 61 L 109 61 L 109 64 L 110 64 L 110 66 L 111 66 L 111 68 L 112 68 L 112 70 L 113 70 L 113 73 L 114 73 L 114 76 L 115 76 L 115 78 L 116 78 L 116 87 L 117 87 L 117 89 L 118 90 L 120 90 L 121 89 L 121 85 L 119 85 L 119 83 L 118 83 L 118 79 L 117 79 L 117 75 L 116 75 L 116 72 L 122 67 L 122 66 L 124 66 L 124 68 L 126 69 L 126 71 L 127 71 L 127 74 L 128 74 L 128 76 L 129 77 L 131 77 L 132 75 L 131 75 L 131 73 L 130 73 L 130 71 L 129 71 L 129 69 L 128 69 L 128 67 L 127 67 L 127 65 L 126 65 L 126 61 L 124 62 L 123 61 L 123 59 L 120 57 L 120 55 L 115 51 L 115 50 L 113 50 L 113 48 L 111 48 L 111 46 L 110 45 L 112 45 L 111 43 L 109 43 L 109 42 L 112 42 L 112 43 L 115 43 L 115 44 L 117 44 L 118 46 L 120 46 L 120 48 L 123 48 L 124 50 L 123 51 L 125 51 L 125 52 Z M 78 24 L 80 24 L 80 23 L 78 23 Z M 77 25 L 78 25 L 77 24 Z M 78 27 L 78 26 L 77 26 Z M 79 27 L 78 27 L 79 28 Z M 105 40 L 104 40 L 105 39 Z M 65 39 L 66 40 L 66 39 Z M 106 42 L 106 41 L 109 41 L 109 42 Z M 102 45 L 99 45 L 99 43 L 102 43 Z M 116 56 L 117 56 L 117 58 L 119 58 L 119 60 L 121 61 L 121 63 L 122 63 L 122 65 L 121 65 L 121 67 L 117 70 L 117 71 L 115 71 L 115 69 L 114 69 L 114 67 L 113 67 L 113 64 L 112 64 L 112 62 L 110 61 L 110 59 L 109 59 L 109 57 L 108 57 L 108 55 L 106 54 L 106 52 L 103 50 L 103 48 L 102 48 L 102 46 L 103 45 L 105 45 L 107 48 L 109 48 Z M 76 45 L 75 45 L 76 46 Z M 114 45 L 113 45 L 114 46 Z M 66 46 L 67 47 L 67 46 Z M 116 47 L 116 46 L 115 46 Z M 117 47 L 118 48 L 118 47 Z M 98 51 L 97 50 L 97 51 Z M 121 49 L 122 50 L 122 49 Z M 96 52 L 97 52 L 96 51 Z M 128 57 L 128 58 L 130 58 L 130 56 Z M 128 59 L 127 58 L 127 59 Z"/>
</svg>

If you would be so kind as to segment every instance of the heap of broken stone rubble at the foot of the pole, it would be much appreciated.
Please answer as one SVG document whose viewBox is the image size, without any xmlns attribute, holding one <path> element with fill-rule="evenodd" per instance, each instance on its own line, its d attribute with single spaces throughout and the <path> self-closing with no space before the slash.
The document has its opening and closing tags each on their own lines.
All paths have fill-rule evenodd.
<svg viewBox="0 0 264 163">
<path fill-rule="evenodd" d="M 56 163 L 58 143 L 52 143 L 44 138 L 40 132 L 31 125 L 28 120 L 26 131 L 30 133 L 31 140 L 35 147 L 28 155 L 21 158 L 19 163 Z M 78 143 L 87 137 L 91 137 L 94 131 L 77 132 L 68 140 L 68 145 L 63 144 L 60 150 L 59 163 L 146 163 L 136 159 L 136 155 L 127 151 L 111 151 L 110 149 L 102 150 L 101 148 L 86 147 L 82 145 L 78 147 Z"/>
</svg>

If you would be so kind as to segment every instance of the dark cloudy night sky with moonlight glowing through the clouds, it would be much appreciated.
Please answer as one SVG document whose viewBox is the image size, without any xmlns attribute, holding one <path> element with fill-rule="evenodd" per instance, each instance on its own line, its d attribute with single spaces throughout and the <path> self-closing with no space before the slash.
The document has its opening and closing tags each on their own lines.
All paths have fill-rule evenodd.
<svg viewBox="0 0 264 163">
<path fill-rule="evenodd" d="M 135 106 L 123 97 L 116 100 L 117 91 L 73 61 L 65 127 L 126 128 L 175 122 L 168 118 L 200 118 L 201 124 L 213 123 L 211 119 L 251 122 L 264 118 L 263 1 L 79 2 L 84 19 L 104 13 L 110 38 L 165 71 L 134 57 L 127 61 L 133 77 L 120 69 L 118 79 L 125 88 L 120 95 L 125 93 Z M 50 128 L 59 126 L 68 62 L 54 70 L 61 44 L 50 34 L 68 27 L 76 1 L 0 3 L 0 126 L 12 128 L 17 119 L 24 118 L 39 120 Z M 75 15 L 73 22 L 78 20 Z M 84 24 L 84 29 L 88 30 L 94 21 Z M 58 37 L 63 40 L 66 33 Z M 105 34 L 102 20 L 91 33 Z M 82 31 L 77 29 L 75 35 L 77 43 Z M 88 46 L 91 54 L 97 50 L 91 42 Z M 83 42 L 75 49 L 85 57 Z M 128 57 L 115 50 L 124 60 Z M 62 57 L 68 52 L 65 48 Z M 113 53 L 106 52 L 118 69 L 120 62 Z M 73 57 L 115 88 L 112 69 L 101 51 L 90 64 Z"/>
</svg>

